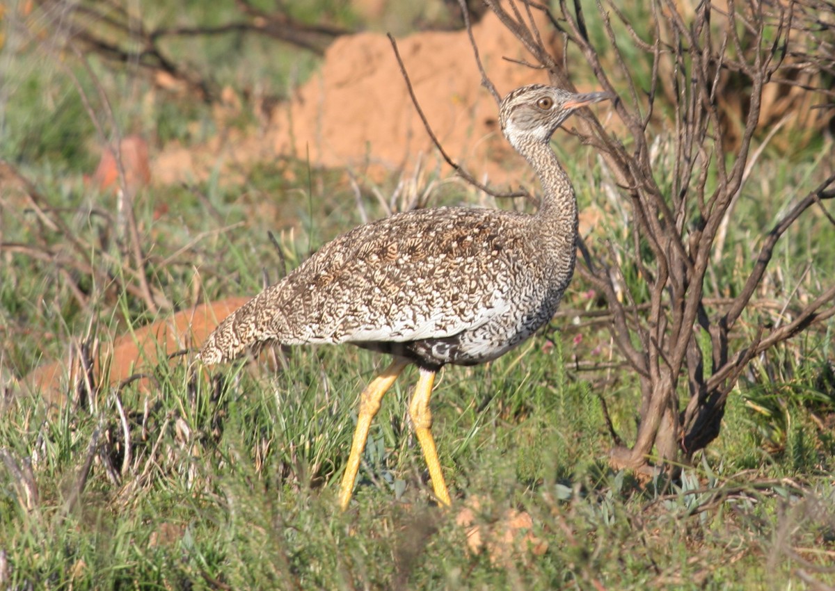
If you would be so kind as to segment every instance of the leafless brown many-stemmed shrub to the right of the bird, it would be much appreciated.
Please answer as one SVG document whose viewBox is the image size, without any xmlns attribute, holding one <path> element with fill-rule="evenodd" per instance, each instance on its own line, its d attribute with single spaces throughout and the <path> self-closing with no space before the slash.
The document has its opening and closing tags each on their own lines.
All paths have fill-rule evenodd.
<svg viewBox="0 0 835 591">
<path fill-rule="evenodd" d="M 566 68 L 570 63 L 568 48 L 564 63 L 557 63 L 526 26 L 515 4 L 505 9 L 496 0 L 487 2 L 534 58 L 549 68 L 552 80 L 573 89 Z M 786 325 L 778 322 L 770 332 L 761 327 L 747 346 L 736 351 L 731 341 L 742 336 L 738 334 L 741 331 L 731 334 L 742 311 L 774 305 L 772 300 L 768 304 L 756 301 L 753 295 L 762 284 L 779 236 L 813 203 L 835 224 L 835 216 L 822 204 L 822 200 L 835 196 L 832 177 L 792 207 L 765 235 L 759 258 L 739 295 L 706 297 L 711 282 L 714 290 L 721 285 L 711 261 L 722 256 L 721 242 L 733 223 L 733 206 L 752 176 L 763 147 L 782 125 L 772 124 L 759 148 L 751 149 L 760 131 L 766 84 L 779 79 L 787 81 L 792 89 L 807 88 L 831 96 L 831 89 L 818 88 L 825 83 L 809 83 L 804 77 L 819 73 L 824 79 L 835 71 L 835 63 L 821 57 L 827 55 L 827 48 L 817 48 L 815 53 L 807 52 L 802 45 L 792 46 L 798 31 L 814 31 L 820 26 L 814 11 L 806 14 L 803 3 L 771 5 L 731 0 L 724 12 L 711 3 L 700 3 L 694 13 L 685 16 L 675 0 L 657 0 L 651 4 L 655 34 L 650 44 L 636 33 L 635 23 L 630 23 L 615 3 L 600 0 L 597 11 L 606 37 L 603 48 L 590 43 L 579 0 L 561 0 L 556 16 L 547 7 L 529 6 L 544 10 L 554 28 L 564 33 L 566 45 L 573 43 L 579 48 L 605 90 L 618 94 L 624 88 L 621 93 L 627 97 L 626 101 L 615 101 L 614 109 L 630 133 L 629 142 L 606 136 L 592 118 L 579 120 L 576 133 L 581 138 L 595 137 L 601 158 L 616 179 L 616 188 L 631 205 L 626 260 L 609 241 L 604 241 L 608 247 L 602 253 L 590 252 L 584 243 L 579 244 L 584 260 L 579 275 L 600 290 L 609 308 L 600 311 L 602 316 L 583 317 L 594 318 L 591 322 L 610 320 L 612 342 L 640 376 L 640 425 L 635 445 L 628 450 L 616 448 L 612 461 L 648 469 L 653 447 L 663 462 L 677 462 L 680 453 L 686 461 L 718 434 L 726 397 L 748 361 L 835 316 L 835 288 L 824 287 L 807 306 L 797 306 L 790 296 L 792 321 Z M 652 59 L 647 88 L 639 88 L 636 83 L 639 78 L 635 78 L 625 58 L 620 23 L 612 21 L 612 14 L 623 24 L 632 46 Z M 813 33 L 808 34 L 814 39 L 812 45 L 820 44 L 811 37 Z M 665 78 L 668 76 L 669 81 Z M 734 87 L 735 92 L 742 93 L 744 105 L 736 112 L 741 119 L 738 137 L 727 134 L 731 128 L 726 91 L 731 83 L 742 85 L 741 90 Z M 662 98 L 670 100 L 673 110 L 675 133 L 669 154 L 663 142 L 648 140 L 657 110 L 657 88 L 662 88 Z M 658 146 L 660 149 L 656 149 Z M 668 162 L 668 170 L 660 169 Z M 645 301 L 631 299 L 634 288 L 620 290 L 627 266 L 633 275 L 639 275 Z M 640 316 L 639 310 L 644 312 Z M 710 336 L 710 351 L 703 351 L 706 346 L 696 338 L 701 330 Z M 705 356 L 711 358 L 710 368 L 705 366 Z M 683 384 L 691 398 L 680 415 L 678 391 Z"/>
</svg>

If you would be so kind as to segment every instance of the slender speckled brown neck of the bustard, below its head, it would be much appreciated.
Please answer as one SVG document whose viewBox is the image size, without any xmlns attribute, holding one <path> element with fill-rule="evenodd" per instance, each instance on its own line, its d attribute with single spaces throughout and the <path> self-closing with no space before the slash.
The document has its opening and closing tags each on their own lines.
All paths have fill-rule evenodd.
<svg viewBox="0 0 835 591">
<path fill-rule="evenodd" d="M 519 146 L 519 153 L 528 160 L 542 184 L 535 224 L 547 233 L 544 238 L 555 240 L 573 252 L 577 239 L 577 198 L 568 174 L 548 144 L 531 142 Z"/>
</svg>

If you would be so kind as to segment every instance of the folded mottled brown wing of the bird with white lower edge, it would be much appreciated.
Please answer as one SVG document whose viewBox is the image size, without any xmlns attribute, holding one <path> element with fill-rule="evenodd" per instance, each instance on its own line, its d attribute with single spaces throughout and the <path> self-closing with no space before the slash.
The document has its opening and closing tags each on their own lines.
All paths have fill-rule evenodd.
<svg viewBox="0 0 835 591">
<path fill-rule="evenodd" d="M 403 342 L 480 326 L 510 306 L 509 284 L 524 272 L 513 255 L 519 233 L 503 231 L 521 222 L 443 208 L 361 226 L 276 285 L 272 332 L 288 344 Z"/>
</svg>

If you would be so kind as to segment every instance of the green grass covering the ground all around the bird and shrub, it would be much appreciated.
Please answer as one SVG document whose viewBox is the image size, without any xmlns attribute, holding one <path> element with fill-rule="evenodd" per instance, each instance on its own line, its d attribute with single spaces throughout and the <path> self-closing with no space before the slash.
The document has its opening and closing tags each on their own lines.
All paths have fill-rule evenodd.
<svg viewBox="0 0 835 591">
<path fill-rule="evenodd" d="M 344 8 L 326 3 L 322 9 L 341 14 Z M 222 53 L 219 78 L 235 88 L 248 83 L 235 77 L 241 56 L 261 64 L 250 70 L 253 77 L 291 84 L 289 73 L 267 67 L 266 46 L 254 45 L 189 50 L 204 65 Z M 276 63 L 290 60 L 279 52 Z M 114 215 L 114 199 L 94 194 L 81 179 L 95 164 L 92 124 L 62 70 L 34 63 L 29 53 L 13 62 L 21 92 L 9 99 L 8 141 L 0 150 L 88 248 L 73 252 L 66 236 L 45 227 L 31 207 L 20 205 L 25 202 L 13 201 L 12 191 L 3 196 L 3 244 L 72 255 L 109 279 L 31 253 L 0 251 L 0 587 L 815 588 L 804 576 L 835 584 L 826 570 L 835 556 L 832 323 L 751 365 L 729 399 L 721 437 L 676 483 L 640 481 L 608 466 L 612 441 L 600 397 L 627 440 L 635 434 L 640 400 L 630 371 L 574 365 L 574 356 L 608 361 L 602 328 L 578 331 L 564 321 L 559 331 L 488 366 L 448 368 L 433 395 L 433 432 L 455 498 L 449 510 L 431 500 L 407 424 L 416 380 L 408 370 L 372 427 L 352 505 L 339 512 L 357 397 L 385 362 L 367 351 L 297 347 L 286 351 L 279 371 L 233 365 L 214 371 L 215 381 L 183 366 L 159 366 L 149 391 L 135 383 L 105 388 L 92 410 L 49 412 L 37 397 L 20 395 L 16 378 L 43 360 L 66 358 L 88 331 L 109 341 L 156 317 L 125 289 L 133 281 L 124 270 L 129 261 L 96 213 Z M 127 127 L 185 144 L 212 133 L 210 109 L 176 96 L 142 103 L 149 87 L 141 79 L 127 84 L 100 64 L 94 71 Z M 195 129 L 204 131 L 195 135 Z M 569 141 L 566 136 L 561 144 Z M 732 226 L 726 242 L 735 258 L 716 267 L 709 290 L 739 289 L 753 264 L 753 237 L 773 223 L 797 187 L 813 184 L 818 154 L 799 150 L 787 164 L 782 154 L 763 153 L 757 183 L 737 205 L 746 222 Z M 594 162 L 591 156 L 569 160 L 579 186 L 594 186 L 600 174 Z M 288 182 L 288 173 L 298 180 Z M 396 182 L 382 182 L 383 194 Z M 383 215 L 377 200 L 364 199 L 369 215 Z M 581 192 L 580 200 L 587 205 L 595 195 Z M 473 201 L 472 193 L 447 184 L 431 205 Z M 11 203 L 18 209 L 7 210 Z M 159 203 L 170 205 L 161 216 L 155 215 Z M 264 204 L 273 215 L 257 209 Z M 292 267 L 360 221 L 342 171 L 294 160 L 259 164 L 236 183 L 210 179 L 191 189 L 146 189 L 136 213 L 149 282 L 177 308 L 253 294 L 262 269 L 275 280 L 281 257 L 268 230 Z M 825 218 L 810 215 L 780 242 L 772 263 L 774 299 L 786 301 L 798 286 L 813 294 L 832 280 L 833 234 Z M 617 228 L 610 235 L 618 248 L 630 244 Z M 639 278 L 627 280 L 637 286 Z M 570 291 L 565 307 L 596 306 L 582 280 Z M 746 331 L 753 334 L 757 318 L 751 316 Z M 119 405 L 130 438 L 127 463 Z M 99 451 L 91 456 L 94 441 Z M 33 478 L 28 491 L 38 493 L 32 503 L 23 484 L 26 458 Z M 68 506 L 81 482 L 78 502 Z M 469 552 L 456 517 L 475 500 L 483 532 L 500 530 L 509 510 L 522 510 L 547 548 L 534 553 L 523 543 L 493 559 Z"/>
</svg>

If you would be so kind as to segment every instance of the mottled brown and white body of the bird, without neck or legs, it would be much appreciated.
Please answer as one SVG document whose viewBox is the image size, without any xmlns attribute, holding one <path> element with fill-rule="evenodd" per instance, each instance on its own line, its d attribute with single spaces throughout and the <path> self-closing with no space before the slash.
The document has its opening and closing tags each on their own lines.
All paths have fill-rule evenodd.
<svg viewBox="0 0 835 591">
<path fill-rule="evenodd" d="M 554 280 L 567 279 L 552 266 L 531 215 L 392 215 L 324 245 L 224 321 L 200 356 L 224 361 L 264 341 L 352 342 L 429 366 L 487 361 L 556 310 Z"/>
</svg>

